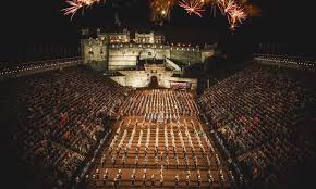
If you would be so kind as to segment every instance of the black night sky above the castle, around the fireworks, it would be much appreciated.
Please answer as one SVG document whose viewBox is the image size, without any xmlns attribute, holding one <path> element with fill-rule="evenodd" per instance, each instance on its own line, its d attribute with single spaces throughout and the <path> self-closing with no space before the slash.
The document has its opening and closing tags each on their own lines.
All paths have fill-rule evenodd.
<svg viewBox="0 0 316 189">
<path fill-rule="evenodd" d="M 315 21 L 313 2 L 308 0 L 250 0 L 260 9 L 260 15 L 247 20 L 235 33 L 228 29 L 226 17 L 205 14 L 189 16 L 174 8 L 170 22 L 157 26 L 150 22 L 148 0 L 117 0 L 117 8 L 94 5 L 76 14 L 73 21 L 61 13 L 64 0 L 16 0 L 1 5 L 1 61 L 25 60 L 27 49 L 38 43 L 75 47 L 81 28 L 112 28 L 118 13 L 123 28 L 156 29 L 174 42 L 219 42 L 231 51 L 248 51 L 258 42 L 288 43 L 292 51 L 315 55 Z M 123 3 L 122 3 L 123 2 Z M 2 2 L 1 2 L 2 3 Z M 10 3 L 10 4 L 9 4 Z M 294 49 L 294 50 L 293 50 Z M 3 55 L 2 55 L 3 54 Z"/>
</svg>

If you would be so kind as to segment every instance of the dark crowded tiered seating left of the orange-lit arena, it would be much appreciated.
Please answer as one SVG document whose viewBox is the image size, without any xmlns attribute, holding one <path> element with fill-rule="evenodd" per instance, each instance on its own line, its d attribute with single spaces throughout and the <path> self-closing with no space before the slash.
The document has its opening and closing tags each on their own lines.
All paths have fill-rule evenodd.
<svg viewBox="0 0 316 189">
<path fill-rule="evenodd" d="M 65 186 L 105 131 L 104 118 L 116 115 L 127 90 L 85 67 L 51 71 L 10 81 L 22 114 L 14 138 L 29 164 L 49 169 Z M 51 174 L 52 172 L 52 174 Z"/>
</svg>

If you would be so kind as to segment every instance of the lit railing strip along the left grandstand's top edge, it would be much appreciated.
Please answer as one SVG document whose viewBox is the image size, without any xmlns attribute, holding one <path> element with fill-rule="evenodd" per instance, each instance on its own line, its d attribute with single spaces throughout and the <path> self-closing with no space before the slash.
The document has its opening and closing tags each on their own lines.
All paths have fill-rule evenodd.
<svg viewBox="0 0 316 189">
<path fill-rule="evenodd" d="M 82 63 L 81 56 L 53 59 L 37 62 L 0 64 L 0 78 L 27 75 L 36 72 L 65 67 Z"/>
</svg>

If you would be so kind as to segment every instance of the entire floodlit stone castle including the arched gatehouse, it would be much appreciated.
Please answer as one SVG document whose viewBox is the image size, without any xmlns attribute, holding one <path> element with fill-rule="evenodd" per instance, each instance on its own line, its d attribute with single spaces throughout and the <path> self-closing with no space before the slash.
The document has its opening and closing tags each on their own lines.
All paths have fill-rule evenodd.
<svg viewBox="0 0 316 189">
<path fill-rule="evenodd" d="M 216 47 L 170 45 L 161 34 L 136 32 L 132 37 L 126 29 L 116 33 L 101 33 L 98 29 L 97 37 L 82 39 L 81 43 L 84 63 L 98 71 L 120 73 L 112 79 L 123 86 L 146 87 L 153 77 L 157 77 L 161 87 L 191 89 L 196 88 L 197 79 L 186 78 L 184 68 L 203 63 L 214 55 Z"/>
</svg>

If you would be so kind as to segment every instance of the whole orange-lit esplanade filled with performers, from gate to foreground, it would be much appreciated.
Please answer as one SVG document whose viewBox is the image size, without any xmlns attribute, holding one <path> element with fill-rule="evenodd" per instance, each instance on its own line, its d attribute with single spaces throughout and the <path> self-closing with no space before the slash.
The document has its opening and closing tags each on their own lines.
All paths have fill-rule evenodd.
<svg viewBox="0 0 316 189">
<path fill-rule="evenodd" d="M 230 186 L 226 162 L 198 118 L 192 92 L 138 90 L 120 113 L 86 177 L 88 188 Z"/>
</svg>

